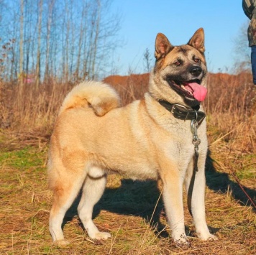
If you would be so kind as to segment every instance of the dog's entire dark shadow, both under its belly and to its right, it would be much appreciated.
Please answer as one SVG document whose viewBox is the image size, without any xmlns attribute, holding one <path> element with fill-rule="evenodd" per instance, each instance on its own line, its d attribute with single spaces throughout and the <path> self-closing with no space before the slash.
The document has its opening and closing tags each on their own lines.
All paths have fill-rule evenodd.
<svg viewBox="0 0 256 255">
<path fill-rule="evenodd" d="M 206 159 L 206 185 L 215 192 L 227 193 L 228 190 L 229 192 L 232 190 L 233 198 L 238 200 L 241 205 L 250 205 L 241 187 L 236 182 L 230 180 L 229 175 L 216 172 L 213 159 L 211 159 L 211 152 L 208 153 Z M 247 187 L 243 188 L 251 198 L 255 198 L 255 190 Z M 157 203 L 159 196 L 160 190 L 158 190 L 157 182 L 155 181 L 142 182 L 124 179 L 120 187 L 113 189 L 106 188 L 101 200 L 94 207 L 93 218 L 99 215 L 101 210 L 108 210 L 109 212 L 121 215 L 137 215 L 144 218 L 147 223 L 150 223 L 150 226 L 155 228 L 157 234 L 161 237 L 166 237 L 169 234 L 165 231 L 165 226 L 160 223 L 160 215 L 164 215 L 165 211 L 163 200 L 160 199 Z M 66 213 L 63 225 L 67 221 L 70 221 L 74 215 L 78 215 L 77 207 L 80 198 L 81 195 L 78 196 L 72 207 Z M 218 231 L 210 226 L 209 228 L 214 233 Z M 187 226 L 186 232 L 188 232 L 188 236 L 191 236 L 192 233 Z"/>
</svg>

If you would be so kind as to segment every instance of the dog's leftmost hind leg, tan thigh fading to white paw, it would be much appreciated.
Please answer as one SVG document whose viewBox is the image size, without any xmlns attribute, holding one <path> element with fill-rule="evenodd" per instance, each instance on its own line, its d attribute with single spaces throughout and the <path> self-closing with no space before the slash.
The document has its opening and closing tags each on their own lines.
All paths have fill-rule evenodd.
<svg viewBox="0 0 256 255">
<path fill-rule="evenodd" d="M 60 168 L 58 170 L 60 170 Z M 65 177 L 60 174 L 62 170 L 65 171 Z M 52 241 L 58 246 L 69 244 L 63 236 L 63 218 L 68 208 L 70 208 L 73 201 L 76 199 L 86 178 L 86 172 L 84 170 L 79 172 L 80 175 L 78 172 L 76 172 L 76 174 L 68 173 L 65 168 L 62 170 L 59 171 L 58 179 L 55 180 L 54 185 L 52 185 L 53 203 L 50 210 L 49 221 Z"/>
</svg>

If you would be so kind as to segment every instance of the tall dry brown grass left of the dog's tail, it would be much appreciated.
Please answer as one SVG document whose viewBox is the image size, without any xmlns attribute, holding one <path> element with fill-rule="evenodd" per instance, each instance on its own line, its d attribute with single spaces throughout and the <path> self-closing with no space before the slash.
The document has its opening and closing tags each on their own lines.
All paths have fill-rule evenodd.
<svg viewBox="0 0 256 255">
<path fill-rule="evenodd" d="M 55 116 L 72 85 L 54 80 L 40 85 L 0 85 L 0 131 L 24 141 L 48 139 Z M 9 141 L 8 141 L 9 142 Z M 6 145 L 6 144 L 5 144 Z"/>
</svg>

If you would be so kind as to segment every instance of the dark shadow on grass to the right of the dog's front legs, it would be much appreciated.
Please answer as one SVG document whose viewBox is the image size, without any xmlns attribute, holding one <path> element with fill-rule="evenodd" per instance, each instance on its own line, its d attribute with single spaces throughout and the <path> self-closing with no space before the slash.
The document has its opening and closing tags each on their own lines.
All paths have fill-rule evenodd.
<svg viewBox="0 0 256 255">
<path fill-rule="evenodd" d="M 211 158 L 211 151 L 208 151 L 208 155 L 206 158 L 206 185 L 216 192 L 221 193 L 231 193 L 232 198 L 237 200 L 240 205 L 250 206 L 252 203 L 247 198 L 247 195 L 242 191 L 244 191 L 250 196 L 254 203 L 256 203 L 256 190 L 252 190 L 248 187 L 242 185 L 242 188 L 234 182 L 230 180 L 229 175 L 225 172 L 217 172 L 214 167 L 214 159 Z M 255 208 L 254 208 L 255 211 Z"/>
</svg>

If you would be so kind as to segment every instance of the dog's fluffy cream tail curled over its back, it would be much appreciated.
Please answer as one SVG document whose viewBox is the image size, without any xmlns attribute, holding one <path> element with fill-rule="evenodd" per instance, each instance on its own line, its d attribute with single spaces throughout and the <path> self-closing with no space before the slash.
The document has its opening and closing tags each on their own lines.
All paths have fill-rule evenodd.
<svg viewBox="0 0 256 255">
<path fill-rule="evenodd" d="M 120 106 L 120 98 L 114 88 L 106 83 L 87 81 L 74 87 L 65 97 L 60 113 L 70 108 L 91 107 L 98 116 Z"/>
</svg>

